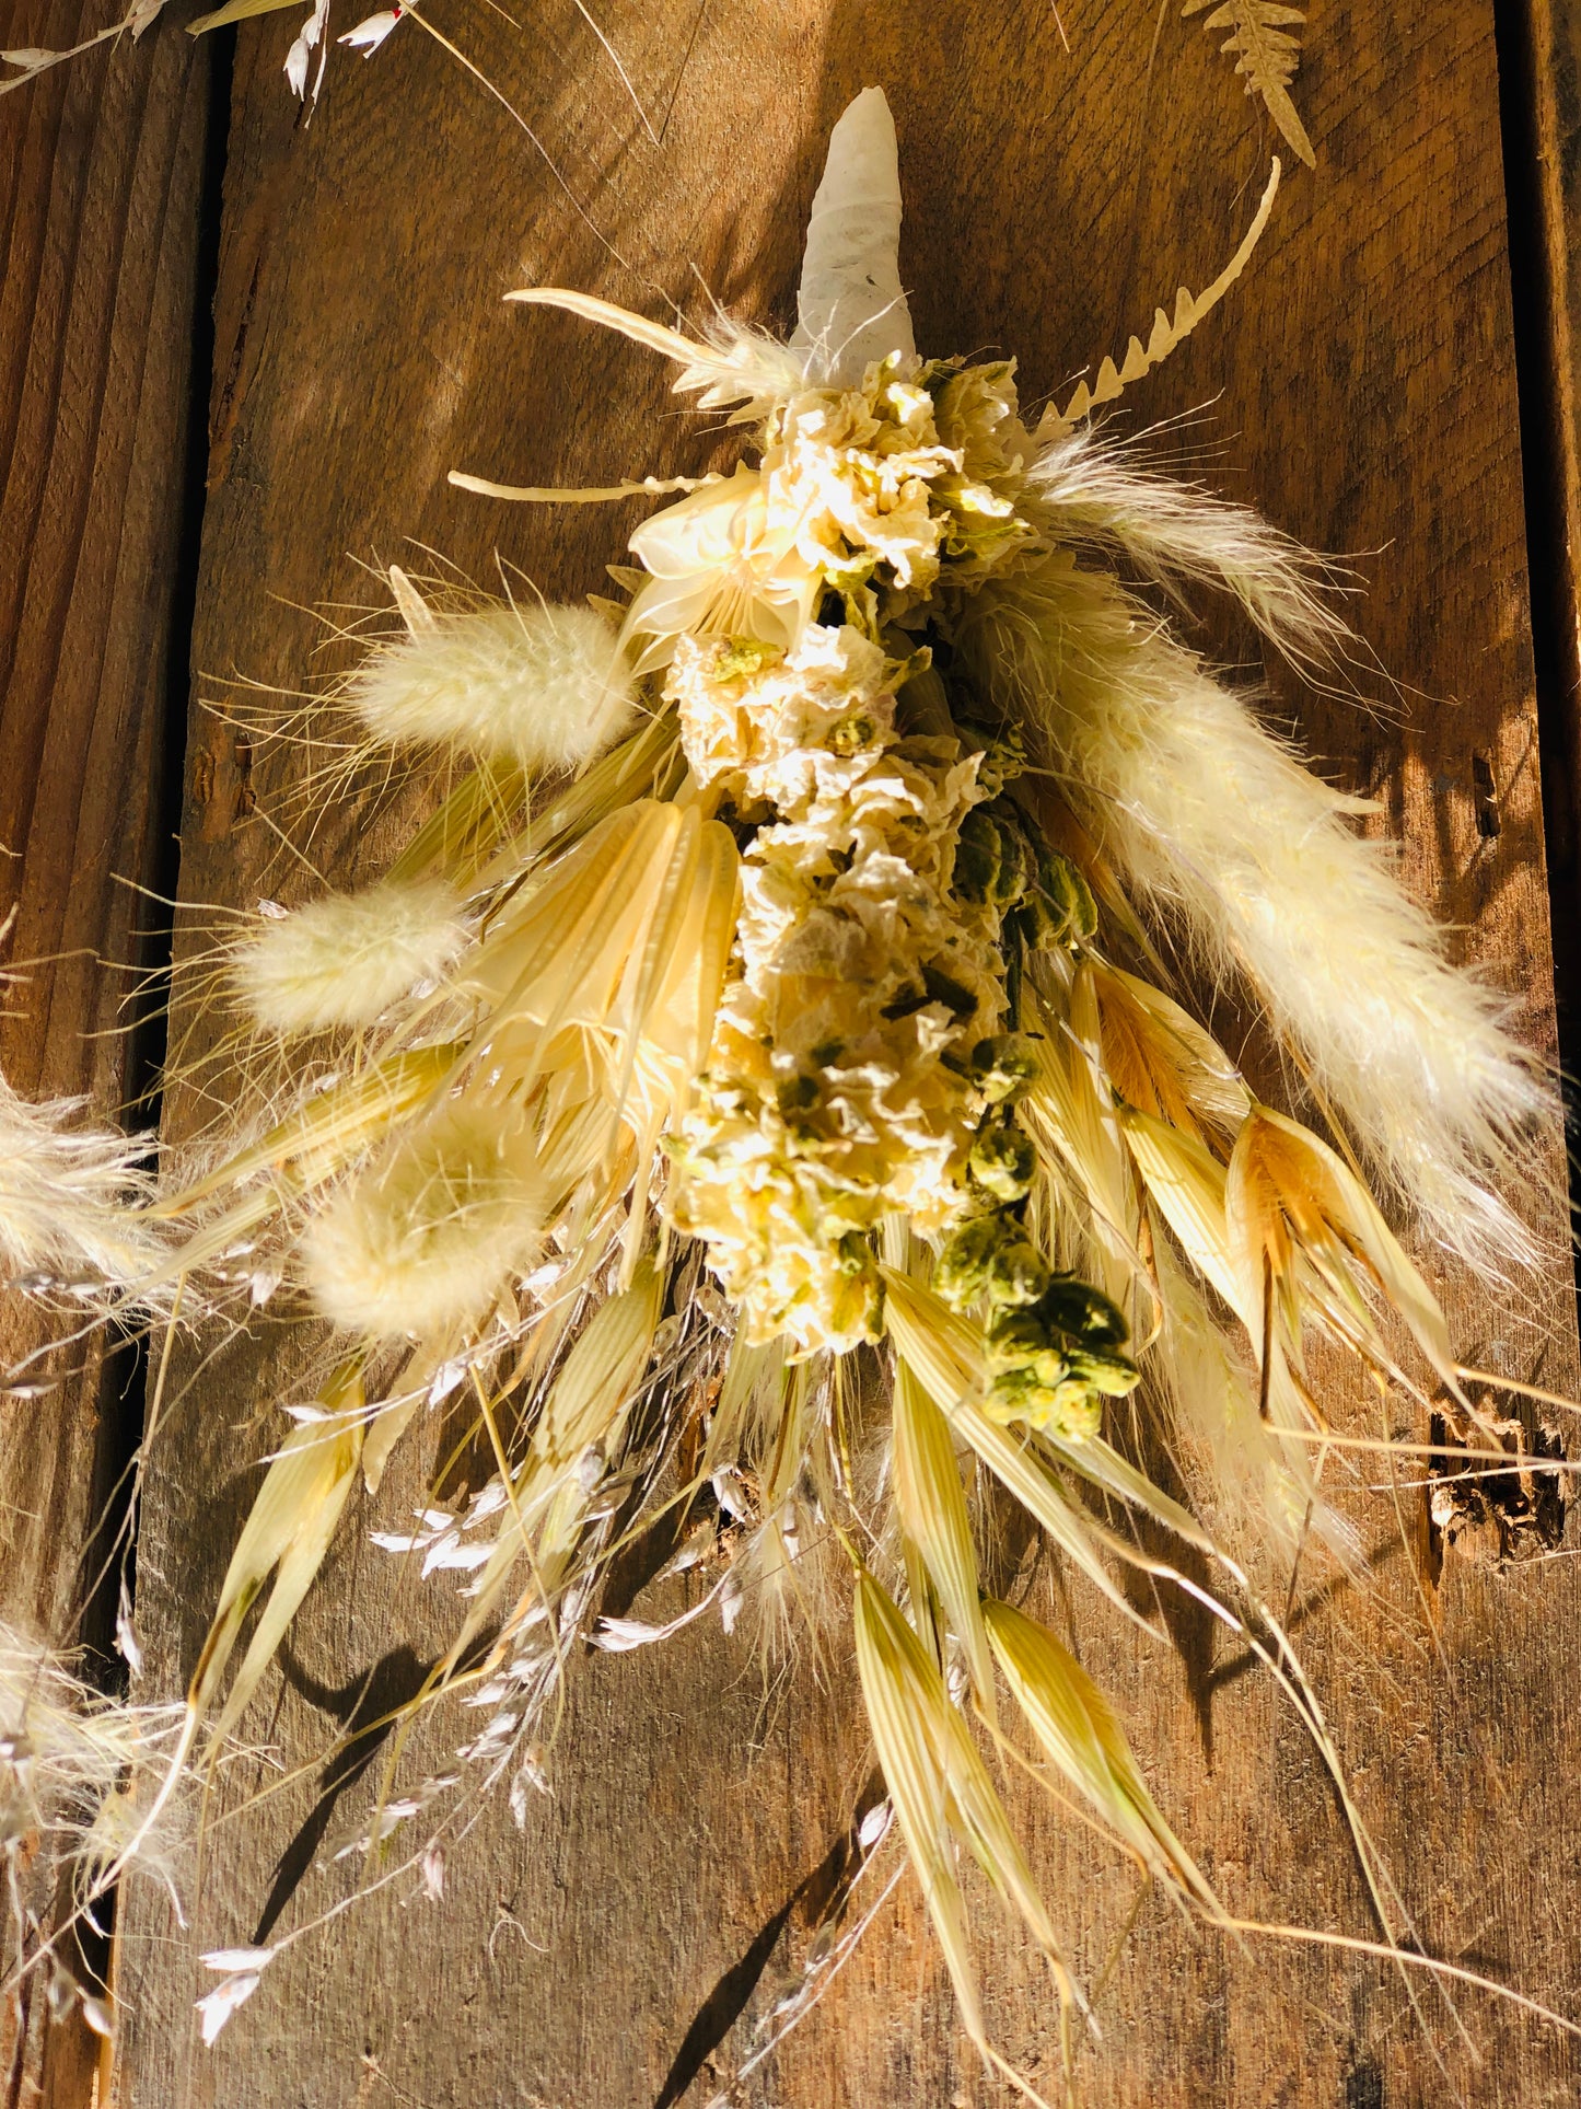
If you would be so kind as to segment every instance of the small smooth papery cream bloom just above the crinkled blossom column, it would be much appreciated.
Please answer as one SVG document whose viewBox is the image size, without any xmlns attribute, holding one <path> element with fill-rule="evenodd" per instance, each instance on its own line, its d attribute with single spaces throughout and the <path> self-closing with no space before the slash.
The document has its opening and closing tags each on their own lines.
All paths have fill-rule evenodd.
<svg viewBox="0 0 1581 2109">
<path fill-rule="evenodd" d="M 651 574 L 626 612 L 622 643 L 641 645 L 637 673 L 668 666 L 681 635 L 755 637 L 786 652 L 818 607 L 820 572 L 776 523 L 755 468 L 706 483 L 653 519 L 630 548 Z"/>
</svg>

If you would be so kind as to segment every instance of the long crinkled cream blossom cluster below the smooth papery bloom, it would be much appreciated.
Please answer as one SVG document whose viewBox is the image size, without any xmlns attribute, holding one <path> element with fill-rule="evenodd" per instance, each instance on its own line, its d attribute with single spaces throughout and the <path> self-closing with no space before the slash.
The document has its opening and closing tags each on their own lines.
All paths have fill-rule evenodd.
<svg viewBox="0 0 1581 2109">
<path fill-rule="evenodd" d="M 672 1213 L 753 1337 L 801 1348 L 877 1337 L 885 1213 L 938 1234 L 965 1208 L 968 1059 L 1003 1012 L 997 915 L 951 892 L 978 757 L 896 730 L 900 673 L 812 624 L 788 658 L 683 639 L 670 679 L 698 778 L 772 810 Z"/>
</svg>

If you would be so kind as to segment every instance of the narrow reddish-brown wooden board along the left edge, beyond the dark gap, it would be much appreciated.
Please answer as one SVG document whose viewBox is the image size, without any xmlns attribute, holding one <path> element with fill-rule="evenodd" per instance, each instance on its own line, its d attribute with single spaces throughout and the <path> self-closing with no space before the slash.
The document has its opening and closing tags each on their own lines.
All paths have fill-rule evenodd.
<svg viewBox="0 0 1581 2109">
<path fill-rule="evenodd" d="M 61 49 L 108 0 L 0 6 L 0 49 Z M 209 55 L 101 49 L 0 99 L 0 1067 L 27 1095 L 126 1090 L 124 1008 L 158 884 L 171 664 L 186 666 L 183 464 L 192 424 Z M 181 685 L 186 685 L 181 677 Z M 0 1367 L 40 1346 L 4 1299 Z M 0 1613 L 70 1647 L 84 1552 L 131 1434 L 95 1341 L 0 1396 Z M 93 1563 L 97 1565 L 97 1563 Z M 86 2098 L 95 2039 L 44 2027 L 38 1980 L 0 2014 L 6 2103 Z"/>
</svg>

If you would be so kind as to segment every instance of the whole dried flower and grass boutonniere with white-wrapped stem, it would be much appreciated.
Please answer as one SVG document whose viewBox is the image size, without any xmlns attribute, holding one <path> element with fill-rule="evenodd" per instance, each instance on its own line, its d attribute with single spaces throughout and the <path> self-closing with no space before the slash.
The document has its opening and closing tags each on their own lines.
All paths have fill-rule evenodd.
<svg viewBox="0 0 1581 2109">
<path fill-rule="evenodd" d="M 1463 1396 L 1389 1221 L 1530 1268 L 1505 1196 L 1549 1092 L 1353 833 L 1358 801 L 1162 614 L 1221 591 L 1332 671 L 1324 565 L 1092 415 L 1227 293 L 1275 188 L 1277 162 L 1208 291 L 1035 432 L 1014 361 L 913 346 L 877 89 L 835 127 L 790 344 L 512 295 L 672 361 L 744 460 L 616 491 L 455 477 L 681 496 L 611 567 L 618 603 L 388 572 L 398 631 L 325 711 L 363 753 L 466 766 L 384 879 L 226 947 L 238 1086 L 268 1080 L 247 1133 L 141 1185 L 122 1145 L 0 1099 L 13 1278 L 167 1324 L 251 1301 L 325 1341 L 145 1822 L 234 1731 L 356 1485 L 457 1400 L 495 1476 L 379 1542 L 460 1569 L 419 1704 L 479 1715 L 451 1776 L 396 1793 L 392 1763 L 379 1864 L 460 1778 L 527 1793 L 573 1641 L 664 1639 L 601 1615 L 609 1563 L 660 1518 L 689 1615 L 746 1611 L 767 1645 L 803 1618 L 850 1632 L 887 1795 L 864 1852 L 894 1850 L 892 1820 L 995 2063 L 963 1854 L 1084 2004 L 1006 1753 L 1223 1917 L 1102 1691 L 984 1592 L 995 1506 L 1126 1615 L 1124 1563 L 1204 1592 L 1143 1535 L 1191 1548 L 1345 1795 L 1256 1575 L 1288 1580 L 1303 1544 L 1355 1556 L 1320 1369 Z M 1286 1105 L 1191 989 L 1261 1012 Z M 1185 1497 L 1145 1470 L 1159 1455 Z M 1360 1820 L 1355 1845 L 1393 1940 Z M 272 1953 L 215 1959 L 209 2033 Z"/>
</svg>

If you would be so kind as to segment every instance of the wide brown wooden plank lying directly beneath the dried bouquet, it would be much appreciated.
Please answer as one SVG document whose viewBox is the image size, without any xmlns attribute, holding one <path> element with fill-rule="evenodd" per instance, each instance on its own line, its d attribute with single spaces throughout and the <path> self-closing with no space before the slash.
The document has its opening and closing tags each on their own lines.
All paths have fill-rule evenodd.
<svg viewBox="0 0 1581 2109">
<path fill-rule="evenodd" d="M 1065 53 L 1037 0 L 919 11 L 904 0 L 624 4 L 601 25 L 653 118 L 653 146 L 569 0 L 514 38 L 483 11 L 443 21 L 487 63 L 563 186 L 510 118 L 403 27 L 369 65 L 335 65 L 312 129 L 278 65 L 289 30 L 240 34 L 219 289 L 211 502 L 194 664 L 285 688 L 318 637 L 316 601 L 371 599 L 356 559 L 405 540 L 487 576 L 495 548 L 573 597 L 639 517 L 523 517 L 445 485 L 451 466 L 519 483 L 694 472 L 719 434 L 677 415 L 668 375 L 622 342 L 500 306 L 557 283 L 647 312 L 696 310 L 698 278 L 786 325 L 828 124 L 883 82 L 906 190 L 902 266 L 928 350 L 1001 346 L 1031 396 L 1145 329 L 1176 285 L 1212 278 L 1261 188 L 1269 137 L 1195 25 L 1090 0 Z M 1155 420 L 1212 405 L 1191 443 L 1212 475 L 1318 546 L 1364 557 L 1370 641 L 1402 683 L 1393 717 L 1284 696 L 1320 757 L 1372 791 L 1406 879 L 1461 928 L 1465 955 L 1551 1052 L 1551 964 L 1511 359 L 1490 8 L 1425 0 L 1408 23 L 1313 6 L 1301 105 L 1315 179 L 1296 175 L 1225 310 L 1138 396 Z M 1172 15 L 1172 11 L 1170 11 Z M 578 200 L 567 202 L 567 190 Z M 592 224 L 592 226 L 590 226 Z M 626 259 L 616 264 L 605 240 Z M 696 276 L 694 276 L 696 270 Z M 1170 441 L 1176 445 L 1176 441 Z M 270 599 L 274 595 L 274 599 Z M 215 694 L 200 683 L 200 692 Z M 194 715 L 183 896 L 301 898 L 257 820 L 287 753 Z M 1383 820 L 1379 823 L 1383 825 Z M 377 869 L 386 814 L 325 816 L 314 863 Z M 202 1040 L 204 1021 L 194 1021 Z M 175 1133 L 196 1120 L 173 1105 Z M 1558 1135 L 1554 1170 L 1560 1168 Z M 1558 1232 L 1551 1204 L 1533 1211 Z M 1566 1265 L 1537 1297 L 1446 1282 L 1467 1350 L 1573 1381 Z M 143 1537 L 152 1679 L 179 1689 L 234 1533 L 278 1434 L 297 1350 L 259 1331 L 188 1365 L 154 1459 Z M 1358 1417 L 1370 1411 L 1349 1400 Z M 432 1468 L 424 1430 L 386 1478 L 401 1527 Z M 1400 1495 L 1414 1514 L 1419 1491 Z M 230 1772 L 211 1810 L 192 1926 L 143 1896 L 124 1949 L 133 2103 L 341 2109 L 628 2109 L 706 2103 L 750 2048 L 807 1938 L 807 1885 L 866 1778 L 854 1681 L 835 1637 L 822 1679 L 761 1672 L 744 1639 L 691 1626 L 670 1647 L 578 1668 L 554 1793 L 516 1833 L 483 1812 L 441 1907 L 384 1890 L 280 1957 L 213 2052 L 196 2042 L 196 1953 L 280 1936 L 350 1894 L 356 1860 L 314 1850 L 373 1801 L 373 1763 L 323 1772 L 337 1723 L 375 1723 L 455 1615 L 367 1546 L 354 1512 L 249 1731 L 274 1753 Z M 1511 1575 L 1450 1563 L 1438 1647 L 1393 1510 L 1370 1510 L 1368 1592 L 1315 1603 L 1305 1658 L 1366 1822 L 1431 1953 L 1564 2006 L 1581 1982 L 1577 1582 L 1558 1559 Z M 677 1584 L 677 1590 L 681 1584 Z M 679 1605 L 677 1597 L 677 1605 Z M 1084 1660 L 1119 1698 L 1164 1807 L 1235 1911 L 1368 1936 L 1360 1881 L 1299 1725 L 1227 1647 L 1178 1620 L 1151 1647 L 1071 1584 Z M 1046 1590 L 1043 1609 L 1065 1622 Z M 363 1696 L 363 1679 L 371 1679 Z M 466 1721 L 436 1719 L 413 1769 Z M 278 1769 L 276 1769 L 278 1767 Z M 232 1814 L 249 1793 L 270 1797 Z M 1132 1881 L 1029 1795 L 1016 1816 L 1088 1982 Z M 223 1822 L 217 1822 L 223 1812 Z M 299 1877 L 299 1879 L 297 1879 Z M 1024 1944 L 978 1900 L 989 2025 L 1056 2086 L 1056 2014 Z M 1467 2048 L 1431 1995 L 1417 2027 L 1372 1961 L 1191 1936 L 1145 1902 L 1102 1991 L 1084 2101 L 1427 2105 L 1570 2103 L 1575 2048 L 1480 1995 Z M 1438 2067 L 1444 2058 L 1448 2075 Z M 818 2012 L 738 2096 L 900 2109 L 999 2101 L 961 2037 L 921 1904 L 902 1883 Z"/>
</svg>

